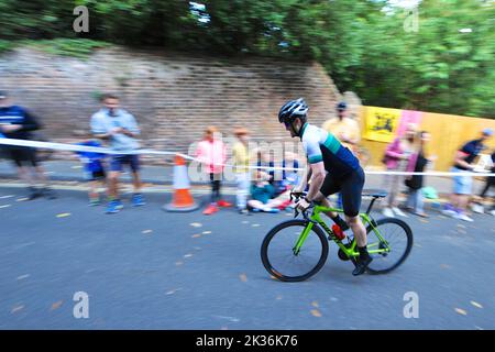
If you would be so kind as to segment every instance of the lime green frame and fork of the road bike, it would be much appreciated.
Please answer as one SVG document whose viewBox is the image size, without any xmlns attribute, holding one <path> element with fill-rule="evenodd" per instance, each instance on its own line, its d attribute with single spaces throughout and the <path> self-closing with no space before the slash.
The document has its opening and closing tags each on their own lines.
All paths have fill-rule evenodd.
<svg viewBox="0 0 495 352">
<path fill-rule="evenodd" d="M 337 245 L 342 250 L 342 252 L 344 252 L 345 255 L 348 255 L 348 257 L 356 257 L 356 256 L 359 256 L 360 253 L 355 250 L 355 248 L 358 245 L 356 241 L 352 240 L 351 248 L 348 249 L 342 243 L 342 241 L 339 240 L 336 237 L 336 234 L 327 226 L 327 223 L 321 219 L 320 212 L 326 212 L 326 211 L 343 213 L 342 209 L 327 208 L 327 207 L 322 207 L 322 206 L 315 206 L 312 215 L 309 217 L 310 221 L 308 221 L 308 224 L 302 230 L 301 234 L 299 235 L 299 238 L 296 241 L 296 244 L 293 248 L 294 254 L 295 255 L 299 254 L 300 249 L 301 249 L 302 244 L 305 243 L 306 239 L 308 238 L 309 232 L 311 231 L 312 227 L 315 226 L 315 223 L 318 223 L 328 233 L 330 239 L 333 240 L 337 243 Z M 371 226 L 371 228 L 373 229 L 373 232 L 375 232 L 376 237 L 380 240 L 378 243 L 369 243 L 367 244 L 367 252 L 370 254 L 389 253 L 391 252 L 391 248 L 388 246 L 388 242 L 382 237 L 380 231 L 376 229 L 376 222 L 373 220 L 373 218 L 367 212 L 360 213 L 360 217 L 361 217 L 361 219 L 362 219 L 362 221 L 363 221 L 363 223 L 365 226 L 366 224 Z M 378 246 L 378 248 L 376 248 L 376 246 Z"/>
</svg>

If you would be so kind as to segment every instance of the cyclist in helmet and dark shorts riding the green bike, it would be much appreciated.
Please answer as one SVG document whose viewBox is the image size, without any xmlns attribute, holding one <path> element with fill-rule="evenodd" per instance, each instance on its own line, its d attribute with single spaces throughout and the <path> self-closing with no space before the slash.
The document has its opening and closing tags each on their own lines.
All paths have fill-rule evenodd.
<svg viewBox="0 0 495 352">
<path fill-rule="evenodd" d="M 361 275 L 372 262 L 366 249 L 366 230 L 359 217 L 361 194 L 364 186 L 364 172 L 358 158 L 344 147 L 331 133 L 307 122 L 308 106 L 302 98 L 286 102 L 278 112 L 278 121 L 285 124 L 290 136 L 298 136 L 308 164 L 301 183 L 294 193 L 301 193 L 310 177 L 307 196 L 297 204 L 297 208 L 306 210 L 311 202 L 330 207 L 328 196 L 342 193 L 345 220 L 358 242 L 360 256 L 352 275 Z M 348 229 L 338 213 L 327 213 L 342 230 Z"/>
</svg>

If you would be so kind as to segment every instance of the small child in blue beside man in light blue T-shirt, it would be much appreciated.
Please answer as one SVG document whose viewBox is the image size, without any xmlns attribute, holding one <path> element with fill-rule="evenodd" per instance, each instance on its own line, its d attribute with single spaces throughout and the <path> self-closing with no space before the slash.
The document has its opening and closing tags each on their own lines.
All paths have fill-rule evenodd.
<svg viewBox="0 0 495 352">
<path fill-rule="evenodd" d="M 77 134 L 80 136 L 86 136 L 86 139 L 82 142 L 77 143 L 77 145 L 95 147 L 101 146 L 101 143 L 92 138 L 92 133 L 78 132 Z M 107 174 L 103 165 L 106 154 L 97 152 L 77 152 L 77 155 L 79 155 L 79 158 L 84 165 L 86 179 L 89 183 L 89 206 L 99 206 L 100 195 L 98 193 L 98 187 L 105 186 L 107 180 Z"/>
</svg>

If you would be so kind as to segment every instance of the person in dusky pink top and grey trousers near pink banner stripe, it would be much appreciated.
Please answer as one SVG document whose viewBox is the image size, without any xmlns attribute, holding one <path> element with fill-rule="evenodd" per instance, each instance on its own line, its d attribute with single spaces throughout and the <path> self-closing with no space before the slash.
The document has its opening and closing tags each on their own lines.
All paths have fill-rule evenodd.
<svg viewBox="0 0 495 352">
<path fill-rule="evenodd" d="M 416 124 L 409 123 L 406 128 L 406 133 L 402 138 L 396 138 L 394 142 L 388 144 L 384 163 L 387 172 L 405 172 L 408 160 L 415 151 L 416 143 Z M 397 194 L 402 185 L 404 176 L 400 175 L 385 175 L 383 187 L 387 190 L 388 196 L 385 199 L 385 207 L 383 215 L 387 218 L 394 218 L 395 215 L 399 217 L 407 217 L 397 207 Z"/>
</svg>

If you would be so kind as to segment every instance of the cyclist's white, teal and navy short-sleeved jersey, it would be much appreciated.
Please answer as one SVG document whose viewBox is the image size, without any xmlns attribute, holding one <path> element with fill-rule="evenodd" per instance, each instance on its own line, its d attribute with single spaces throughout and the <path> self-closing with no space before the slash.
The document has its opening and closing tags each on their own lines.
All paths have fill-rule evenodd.
<svg viewBox="0 0 495 352">
<path fill-rule="evenodd" d="M 343 146 L 331 133 L 306 123 L 300 140 L 309 164 L 324 163 L 324 169 L 334 177 L 341 177 L 360 168 L 360 162 L 352 152 Z"/>
</svg>

